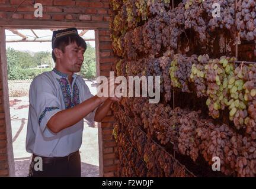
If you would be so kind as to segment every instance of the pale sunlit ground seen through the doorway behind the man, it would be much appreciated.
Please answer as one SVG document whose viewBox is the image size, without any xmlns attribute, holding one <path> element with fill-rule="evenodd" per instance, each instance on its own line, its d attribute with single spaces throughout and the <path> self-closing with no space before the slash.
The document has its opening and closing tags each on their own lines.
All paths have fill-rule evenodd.
<svg viewBox="0 0 256 189">
<path fill-rule="evenodd" d="M 95 94 L 95 86 L 91 86 L 91 82 L 87 82 L 92 94 Z M 17 87 L 15 87 L 15 85 Z M 18 87 L 19 86 L 19 87 Z M 18 83 L 9 86 L 9 93 L 26 93 L 30 83 Z M 17 90 L 18 89 L 18 90 Z M 22 90 L 20 90 L 22 89 Z M 31 161 L 31 154 L 25 151 L 25 137 L 27 133 L 28 119 L 28 96 L 9 97 L 11 126 L 12 126 L 12 141 L 14 148 L 15 161 L 15 176 L 26 177 Z M 98 162 L 98 128 L 88 126 L 84 121 L 84 132 L 82 146 L 80 148 L 81 155 L 81 170 L 82 177 L 99 177 L 99 162 Z"/>
</svg>

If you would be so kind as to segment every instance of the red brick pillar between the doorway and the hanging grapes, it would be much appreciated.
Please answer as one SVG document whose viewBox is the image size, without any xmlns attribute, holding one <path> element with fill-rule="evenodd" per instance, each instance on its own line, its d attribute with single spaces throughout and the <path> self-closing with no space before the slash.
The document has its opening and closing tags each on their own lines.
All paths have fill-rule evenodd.
<svg viewBox="0 0 256 189">
<path fill-rule="evenodd" d="M 97 31 L 98 41 L 98 61 L 101 76 L 110 76 L 114 63 L 113 50 L 110 40 L 110 31 L 108 28 Z M 97 38 L 97 35 L 95 37 Z M 100 176 L 114 177 L 117 171 L 117 158 L 115 155 L 116 141 L 112 135 L 114 124 L 114 116 L 110 111 L 107 117 L 103 119 L 99 126 L 99 145 L 100 149 Z"/>
</svg>

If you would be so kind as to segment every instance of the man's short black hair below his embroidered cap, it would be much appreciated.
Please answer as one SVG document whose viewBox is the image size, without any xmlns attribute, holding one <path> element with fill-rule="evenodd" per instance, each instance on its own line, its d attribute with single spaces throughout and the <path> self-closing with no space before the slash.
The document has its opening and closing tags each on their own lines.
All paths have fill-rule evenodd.
<svg viewBox="0 0 256 189">
<path fill-rule="evenodd" d="M 85 50 L 87 49 L 87 44 L 81 37 L 79 37 L 79 35 L 68 35 L 68 36 L 62 37 L 59 40 L 56 40 L 54 48 L 59 48 L 60 50 L 62 50 L 63 53 L 65 53 L 65 47 L 71 43 L 76 43 L 78 47 L 82 47 Z M 52 57 L 56 63 L 56 56 L 53 50 L 52 50 Z"/>
</svg>

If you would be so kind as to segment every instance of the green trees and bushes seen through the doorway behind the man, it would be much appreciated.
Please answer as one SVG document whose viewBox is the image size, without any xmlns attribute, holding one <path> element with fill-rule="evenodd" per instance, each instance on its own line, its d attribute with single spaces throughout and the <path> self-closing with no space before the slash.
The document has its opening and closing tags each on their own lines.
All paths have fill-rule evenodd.
<svg viewBox="0 0 256 189">
<path fill-rule="evenodd" d="M 50 68 L 37 68 L 37 66 L 42 64 L 49 64 Z M 44 71 L 52 70 L 52 67 L 54 67 L 52 52 L 40 51 L 33 53 L 30 51 L 18 51 L 14 50 L 14 48 L 7 48 L 8 80 L 34 79 L 34 77 Z M 87 43 L 84 63 L 79 74 L 86 79 L 95 78 L 95 48 L 91 47 L 89 43 Z"/>
</svg>

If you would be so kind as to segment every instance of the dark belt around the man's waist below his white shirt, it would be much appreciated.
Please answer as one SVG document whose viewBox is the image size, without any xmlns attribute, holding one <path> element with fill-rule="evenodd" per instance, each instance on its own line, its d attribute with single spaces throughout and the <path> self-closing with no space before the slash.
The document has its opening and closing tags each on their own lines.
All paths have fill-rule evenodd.
<svg viewBox="0 0 256 189">
<path fill-rule="evenodd" d="M 56 164 L 57 162 L 68 162 L 71 159 L 75 158 L 77 155 L 79 155 L 79 151 L 73 152 L 65 157 L 41 157 L 40 155 L 33 154 L 32 161 L 34 161 L 34 158 L 41 157 L 43 160 L 43 164 Z"/>
</svg>

